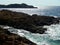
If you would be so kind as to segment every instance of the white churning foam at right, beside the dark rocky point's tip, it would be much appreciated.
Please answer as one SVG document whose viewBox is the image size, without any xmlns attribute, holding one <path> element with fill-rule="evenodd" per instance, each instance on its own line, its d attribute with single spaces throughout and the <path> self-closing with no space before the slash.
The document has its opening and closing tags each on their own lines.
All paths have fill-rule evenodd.
<svg viewBox="0 0 60 45">
<path fill-rule="evenodd" d="M 60 24 L 44 26 L 44 28 L 47 28 L 46 33 L 50 36 L 50 39 L 60 40 Z"/>
</svg>

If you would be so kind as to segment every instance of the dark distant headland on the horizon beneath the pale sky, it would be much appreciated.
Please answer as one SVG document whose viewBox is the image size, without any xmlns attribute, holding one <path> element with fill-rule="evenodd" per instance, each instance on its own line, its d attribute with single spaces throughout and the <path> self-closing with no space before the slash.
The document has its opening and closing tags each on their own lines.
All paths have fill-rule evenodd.
<svg viewBox="0 0 60 45">
<path fill-rule="evenodd" d="M 37 8 L 37 7 L 22 3 L 22 4 L 0 5 L 0 8 Z"/>
</svg>

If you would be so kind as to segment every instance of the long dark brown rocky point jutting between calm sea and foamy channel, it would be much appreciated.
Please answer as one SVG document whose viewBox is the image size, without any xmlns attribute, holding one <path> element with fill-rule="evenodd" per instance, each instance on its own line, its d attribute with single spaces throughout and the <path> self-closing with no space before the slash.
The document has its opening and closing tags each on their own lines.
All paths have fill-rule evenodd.
<svg viewBox="0 0 60 45">
<path fill-rule="evenodd" d="M 38 16 L 25 14 L 22 12 L 13 12 L 9 10 L 0 11 L 0 25 L 8 25 L 18 29 L 24 29 L 32 33 L 43 34 L 46 29 L 44 25 L 59 23 L 58 18 L 50 16 Z"/>
</svg>

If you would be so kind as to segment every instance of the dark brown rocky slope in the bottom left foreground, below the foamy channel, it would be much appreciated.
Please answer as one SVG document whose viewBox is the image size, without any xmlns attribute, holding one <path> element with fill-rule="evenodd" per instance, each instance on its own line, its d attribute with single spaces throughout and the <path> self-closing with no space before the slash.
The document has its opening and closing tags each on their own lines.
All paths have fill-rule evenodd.
<svg viewBox="0 0 60 45">
<path fill-rule="evenodd" d="M 6 29 L 0 28 L 0 45 L 36 45 L 19 35 L 12 34 Z"/>
</svg>

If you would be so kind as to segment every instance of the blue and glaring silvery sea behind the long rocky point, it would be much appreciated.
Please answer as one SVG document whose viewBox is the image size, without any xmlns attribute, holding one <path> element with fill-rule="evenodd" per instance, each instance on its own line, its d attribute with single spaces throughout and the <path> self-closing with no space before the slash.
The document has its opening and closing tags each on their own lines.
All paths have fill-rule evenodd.
<svg viewBox="0 0 60 45">
<path fill-rule="evenodd" d="M 30 15 L 60 16 L 60 6 L 47 6 L 40 8 L 0 8 L 0 10 L 2 9 L 23 12 Z"/>
</svg>

